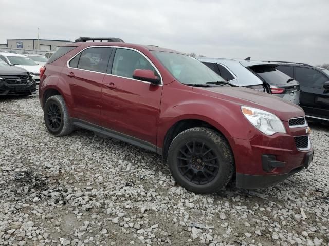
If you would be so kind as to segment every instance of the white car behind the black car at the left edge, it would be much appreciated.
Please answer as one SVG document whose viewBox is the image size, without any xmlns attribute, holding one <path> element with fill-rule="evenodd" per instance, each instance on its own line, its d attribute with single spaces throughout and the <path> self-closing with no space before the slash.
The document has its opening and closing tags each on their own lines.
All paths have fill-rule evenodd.
<svg viewBox="0 0 329 246">
<path fill-rule="evenodd" d="M 11 66 L 24 68 L 32 75 L 32 78 L 35 80 L 36 83 L 40 83 L 41 66 L 36 64 L 29 57 L 20 54 L 1 52 L 0 59 L 2 59 Z"/>
</svg>

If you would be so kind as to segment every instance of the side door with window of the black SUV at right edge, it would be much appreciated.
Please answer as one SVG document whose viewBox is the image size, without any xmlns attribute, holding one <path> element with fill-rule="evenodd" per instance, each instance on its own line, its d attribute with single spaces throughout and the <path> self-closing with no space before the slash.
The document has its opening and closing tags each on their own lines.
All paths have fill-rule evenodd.
<svg viewBox="0 0 329 246">
<path fill-rule="evenodd" d="M 301 86 L 300 105 L 306 115 L 329 119 L 329 90 L 323 88 L 329 78 L 314 68 L 298 66 L 295 77 Z"/>
</svg>

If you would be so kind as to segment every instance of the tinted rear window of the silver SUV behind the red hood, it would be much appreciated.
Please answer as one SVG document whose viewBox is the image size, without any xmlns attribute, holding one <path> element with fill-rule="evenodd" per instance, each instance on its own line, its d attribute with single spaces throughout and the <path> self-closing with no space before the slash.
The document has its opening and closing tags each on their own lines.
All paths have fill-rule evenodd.
<svg viewBox="0 0 329 246">
<path fill-rule="evenodd" d="M 291 79 L 288 75 L 279 71 L 275 67 L 259 65 L 253 66 L 250 69 L 257 73 L 269 84 L 287 85 L 288 80 Z"/>
</svg>

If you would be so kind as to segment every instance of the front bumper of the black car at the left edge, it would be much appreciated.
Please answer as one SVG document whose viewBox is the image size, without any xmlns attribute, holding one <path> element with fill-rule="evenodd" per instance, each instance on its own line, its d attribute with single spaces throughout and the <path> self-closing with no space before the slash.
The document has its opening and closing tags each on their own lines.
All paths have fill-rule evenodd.
<svg viewBox="0 0 329 246">
<path fill-rule="evenodd" d="M 35 82 L 31 84 L 9 84 L 0 81 L 0 95 L 31 95 L 36 92 Z"/>
</svg>

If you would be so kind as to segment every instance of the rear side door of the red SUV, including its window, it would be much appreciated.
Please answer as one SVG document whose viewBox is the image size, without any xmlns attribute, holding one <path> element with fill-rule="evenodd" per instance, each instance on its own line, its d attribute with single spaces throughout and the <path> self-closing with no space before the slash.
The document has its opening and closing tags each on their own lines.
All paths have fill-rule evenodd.
<svg viewBox="0 0 329 246">
<path fill-rule="evenodd" d="M 69 60 L 68 67 L 63 68 L 62 74 L 69 84 L 73 99 L 74 117 L 99 125 L 102 81 L 112 49 L 111 47 L 84 49 Z"/>
</svg>

